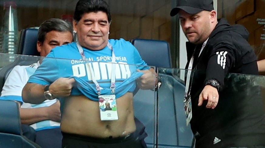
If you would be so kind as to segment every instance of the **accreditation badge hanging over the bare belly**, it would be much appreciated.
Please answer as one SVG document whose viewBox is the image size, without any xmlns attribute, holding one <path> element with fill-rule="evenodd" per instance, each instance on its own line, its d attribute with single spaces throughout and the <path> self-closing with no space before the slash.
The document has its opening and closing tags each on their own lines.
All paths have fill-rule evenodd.
<svg viewBox="0 0 265 148">
<path fill-rule="evenodd" d="M 115 95 L 99 95 L 99 110 L 101 121 L 118 120 Z"/>
</svg>

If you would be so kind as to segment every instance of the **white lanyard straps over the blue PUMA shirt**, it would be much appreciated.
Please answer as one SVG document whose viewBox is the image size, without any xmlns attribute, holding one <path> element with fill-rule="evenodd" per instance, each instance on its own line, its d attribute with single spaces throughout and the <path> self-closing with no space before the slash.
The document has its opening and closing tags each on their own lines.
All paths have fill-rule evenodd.
<svg viewBox="0 0 265 148">
<path fill-rule="evenodd" d="M 80 53 L 80 56 L 82 57 L 82 59 L 84 61 L 87 61 L 86 59 L 86 56 L 85 56 L 85 53 L 84 53 L 84 50 L 82 48 L 82 46 L 79 44 L 79 42 L 76 42 L 76 45 L 77 45 L 77 48 L 78 48 L 78 51 Z M 114 54 L 114 51 L 113 51 L 113 48 L 112 48 L 112 45 L 110 44 L 110 42 L 108 42 L 107 44 L 107 47 L 112 51 L 112 59 L 111 59 L 111 63 L 112 63 L 112 69 L 111 69 L 111 83 L 110 83 L 110 89 L 111 89 L 111 92 L 114 93 L 115 92 L 115 75 L 116 75 L 116 56 Z M 93 83 L 95 83 L 96 85 L 96 89 L 97 89 L 97 94 L 100 95 L 100 85 L 98 84 L 96 78 L 95 78 L 95 73 L 92 69 L 92 67 L 86 63 L 90 69 L 90 73 L 91 73 L 91 77 L 92 77 L 92 81 Z"/>
</svg>

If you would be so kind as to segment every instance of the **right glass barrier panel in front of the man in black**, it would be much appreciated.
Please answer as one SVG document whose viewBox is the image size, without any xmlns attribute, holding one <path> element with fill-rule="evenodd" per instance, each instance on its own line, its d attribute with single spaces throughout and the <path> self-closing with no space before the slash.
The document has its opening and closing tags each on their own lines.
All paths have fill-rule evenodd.
<svg viewBox="0 0 265 148">
<path fill-rule="evenodd" d="M 213 147 L 215 144 L 223 147 L 264 146 L 264 76 L 228 73 L 224 78 L 224 86 L 219 91 L 216 108 L 209 109 L 206 108 L 207 100 L 203 101 L 202 106 L 198 106 L 206 73 L 192 70 L 190 78 L 192 126 L 190 124 L 186 126 L 185 83 L 180 79 L 180 75 L 184 73 L 186 79 L 187 71 L 187 69 L 159 68 L 162 85 L 158 90 L 158 147 L 165 145 L 190 147 L 192 144 L 190 127 L 196 134 L 197 147 Z M 167 141 L 165 129 L 168 132 L 173 130 L 170 135 L 175 140 Z M 207 140 L 210 142 L 205 142 Z"/>
</svg>

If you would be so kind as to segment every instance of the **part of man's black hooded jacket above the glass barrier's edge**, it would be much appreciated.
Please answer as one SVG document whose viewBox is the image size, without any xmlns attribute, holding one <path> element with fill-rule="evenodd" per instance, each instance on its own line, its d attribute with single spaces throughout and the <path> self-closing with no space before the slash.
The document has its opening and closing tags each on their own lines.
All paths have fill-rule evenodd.
<svg viewBox="0 0 265 148">
<path fill-rule="evenodd" d="M 206 79 L 204 80 L 216 79 L 221 84 L 221 87 L 224 85 L 223 79 L 227 72 L 257 75 L 256 63 L 253 63 L 252 69 L 245 68 L 247 64 L 257 61 L 257 56 L 247 42 L 248 37 L 249 33 L 244 26 L 239 24 L 229 25 L 225 19 L 220 19 L 216 28 L 210 34 L 201 55 L 193 63 L 194 69 L 206 71 Z M 195 45 L 187 42 L 186 47 L 189 61 Z M 225 66 L 221 65 L 222 62 L 224 63 L 224 60 L 221 61 L 221 52 L 227 52 Z M 218 55 L 221 56 L 220 64 Z"/>
</svg>

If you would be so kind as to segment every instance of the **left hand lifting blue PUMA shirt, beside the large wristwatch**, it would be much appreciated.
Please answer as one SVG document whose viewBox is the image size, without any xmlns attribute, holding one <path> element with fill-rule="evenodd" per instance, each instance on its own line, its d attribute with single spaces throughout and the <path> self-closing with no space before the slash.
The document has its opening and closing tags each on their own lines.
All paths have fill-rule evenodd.
<svg viewBox="0 0 265 148">
<path fill-rule="evenodd" d="M 71 94 L 75 82 L 74 78 L 59 78 L 49 86 L 49 92 L 53 94 L 54 98 L 67 97 Z"/>
</svg>

